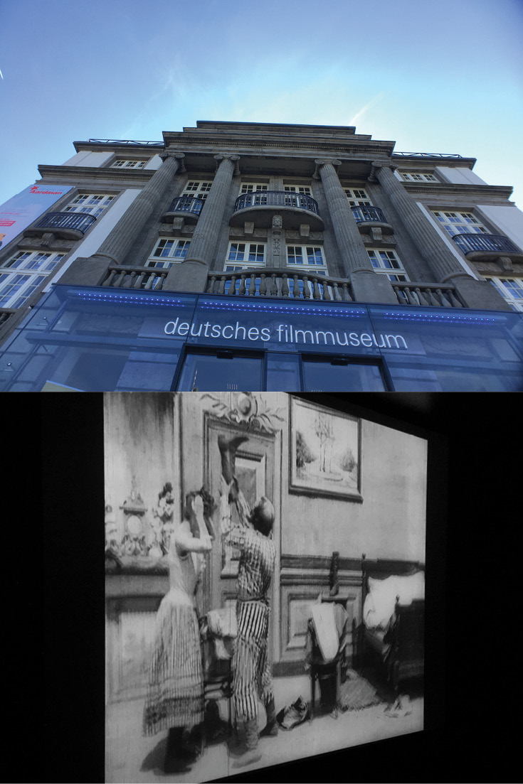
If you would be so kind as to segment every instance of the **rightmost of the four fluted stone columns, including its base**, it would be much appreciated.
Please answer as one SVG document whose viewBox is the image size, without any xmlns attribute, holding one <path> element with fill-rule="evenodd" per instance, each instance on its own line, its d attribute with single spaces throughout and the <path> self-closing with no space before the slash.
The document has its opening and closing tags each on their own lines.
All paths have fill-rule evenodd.
<svg viewBox="0 0 523 784">
<path fill-rule="evenodd" d="M 415 200 L 393 173 L 393 165 L 387 162 L 372 162 L 370 182 L 379 182 L 383 191 L 397 209 L 408 229 L 411 240 L 426 260 L 436 280 L 452 283 L 467 307 L 510 310 L 503 297 L 487 281 L 477 281 L 463 267 L 445 244 L 437 230 L 430 225 Z"/>
</svg>

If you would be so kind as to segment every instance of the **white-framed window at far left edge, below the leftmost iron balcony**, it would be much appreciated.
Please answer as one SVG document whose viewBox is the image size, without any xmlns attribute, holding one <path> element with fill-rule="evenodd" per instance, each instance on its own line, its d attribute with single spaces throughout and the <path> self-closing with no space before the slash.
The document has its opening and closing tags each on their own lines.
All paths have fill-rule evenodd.
<svg viewBox="0 0 523 784">
<path fill-rule="evenodd" d="M 23 307 L 65 253 L 15 253 L 0 267 L 0 307 Z"/>
</svg>

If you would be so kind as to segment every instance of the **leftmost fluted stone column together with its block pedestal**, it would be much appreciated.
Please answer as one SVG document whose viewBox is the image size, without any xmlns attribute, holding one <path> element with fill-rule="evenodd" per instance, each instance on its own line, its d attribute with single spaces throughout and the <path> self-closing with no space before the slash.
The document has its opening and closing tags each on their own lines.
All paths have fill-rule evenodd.
<svg viewBox="0 0 523 784">
<path fill-rule="evenodd" d="M 121 264 L 145 223 L 151 220 L 161 198 L 171 187 L 178 169 L 185 172 L 184 153 L 165 152 L 160 155 L 163 164 L 156 169 L 129 209 L 124 212 L 100 248 L 89 258 L 76 259 L 66 270 L 60 283 L 69 285 L 100 285 L 110 264 Z"/>
</svg>

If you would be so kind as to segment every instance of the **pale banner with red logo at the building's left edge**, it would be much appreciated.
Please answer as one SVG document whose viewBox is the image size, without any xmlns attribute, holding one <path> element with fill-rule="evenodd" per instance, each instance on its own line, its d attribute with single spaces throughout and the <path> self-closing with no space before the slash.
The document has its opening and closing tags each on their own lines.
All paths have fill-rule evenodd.
<svg viewBox="0 0 523 784">
<path fill-rule="evenodd" d="M 0 248 L 43 215 L 72 185 L 29 185 L 0 206 Z"/>
</svg>

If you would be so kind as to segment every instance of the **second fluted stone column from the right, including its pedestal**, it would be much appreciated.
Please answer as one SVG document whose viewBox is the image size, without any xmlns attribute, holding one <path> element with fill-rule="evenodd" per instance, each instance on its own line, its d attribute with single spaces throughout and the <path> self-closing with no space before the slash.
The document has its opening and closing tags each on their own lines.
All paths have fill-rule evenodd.
<svg viewBox="0 0 523 784">
<path fill-rule="evenodd" d="M 341 161 L 315 161 L 315 179 L 321 178 L 331 215 L 338 249 L 342 254 L 343 270 L 353 286 L 357 302 L 397 303 L 390 281 L 378 275 L 372 267 L 360 230 L 353 218 L 349 200 L 342 188 L 335 166 Z M 318 173 L 319 172 L 319 175 Z"/>
</svg>

